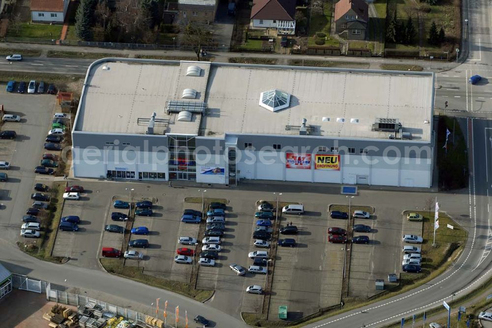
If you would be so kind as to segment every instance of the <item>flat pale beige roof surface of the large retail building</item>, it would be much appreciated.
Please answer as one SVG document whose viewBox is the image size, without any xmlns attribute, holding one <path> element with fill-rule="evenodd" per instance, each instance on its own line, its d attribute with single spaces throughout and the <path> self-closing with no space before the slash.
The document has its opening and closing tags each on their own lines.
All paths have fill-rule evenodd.
<svg viewBox="0 0 492 328">
<path fill-rule="evenodd" d="M 201 67 L 203 74 L 186 76 L 190 65 Z M 185 88 L 195 89 L 196 99 L 183 99 Z M 289 107 L 273 112 L 259 105 L 261 92 L 273 89 L 290 94 Z M 301 126 L 306 119 L 314 136 L 387 138 L 388 132 L 371 129 L 376 118 L 391 118 L 412 139 L 429 141 L 432 97 L 430 73 L 106 62 L 91 69 L 76 130 L 145 134 L 156 112 L 155 134 L 299 135 L 288 126 Z M 206 103 L 208 109 L 205 115 L 194 113 L 191 122 L 178 121 L 178 112 L 165 110 L 171 100 Z"/>
</svg>

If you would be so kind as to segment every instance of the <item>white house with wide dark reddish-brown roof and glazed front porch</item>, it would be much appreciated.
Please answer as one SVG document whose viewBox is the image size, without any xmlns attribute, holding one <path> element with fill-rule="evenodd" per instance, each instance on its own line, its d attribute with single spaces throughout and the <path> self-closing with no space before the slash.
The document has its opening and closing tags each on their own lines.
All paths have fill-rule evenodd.
<svg viewBox="0 0 492 328">
<path fill-rule="evenodd" d="M 295 14 L 295 0 L 253 0 L 249 26 L 273 28 L 277 34 L 295 34 Z"/>
</svg>

